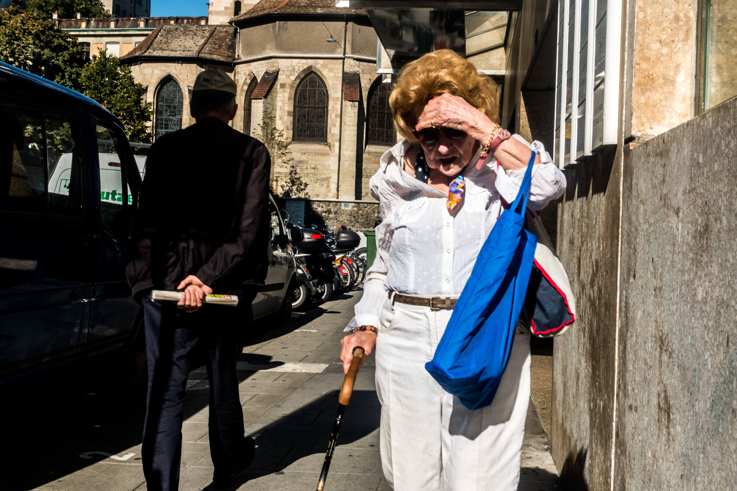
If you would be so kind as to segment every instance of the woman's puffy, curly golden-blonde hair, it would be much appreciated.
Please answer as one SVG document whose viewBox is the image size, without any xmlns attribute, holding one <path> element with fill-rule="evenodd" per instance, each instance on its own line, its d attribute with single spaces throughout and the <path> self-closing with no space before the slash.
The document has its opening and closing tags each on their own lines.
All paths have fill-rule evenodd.
<svg viewBox="0 0 737 491">
<path fill-rule="evenodd" d="M 499 86 L 479 74 L 471 62 L 450 49 L 427 53 L 407 63 L 389 96 L 394 127 L 400 135 L 416 142 L 414 128 L 427 101 L 441 93 L 466 99 L 473 107 L 499 123 Z"/>
</svg>

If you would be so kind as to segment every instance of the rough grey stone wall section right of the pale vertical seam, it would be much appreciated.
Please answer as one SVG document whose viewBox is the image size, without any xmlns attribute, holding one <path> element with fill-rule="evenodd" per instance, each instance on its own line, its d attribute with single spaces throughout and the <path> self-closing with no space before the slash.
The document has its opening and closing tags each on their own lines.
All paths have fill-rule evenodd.
<svg viewBox="0 0 737 491">
<path fill-rule="evenodd" d="M 737 483 L 737 99 L 624 155 L 615 489 Z"/>
</svg>

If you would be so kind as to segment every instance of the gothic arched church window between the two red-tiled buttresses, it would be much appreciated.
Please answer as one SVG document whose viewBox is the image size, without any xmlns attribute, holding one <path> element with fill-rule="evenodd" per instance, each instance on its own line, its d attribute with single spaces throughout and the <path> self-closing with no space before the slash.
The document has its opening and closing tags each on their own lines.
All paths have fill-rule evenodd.
<svg viewBox="0 0 737 491">
<path fill-rule="evenodd" d="M 294 94 L 292 139 L 327 142 L 327 88 L 315 72 L 299 82 Z"/>
</svg>

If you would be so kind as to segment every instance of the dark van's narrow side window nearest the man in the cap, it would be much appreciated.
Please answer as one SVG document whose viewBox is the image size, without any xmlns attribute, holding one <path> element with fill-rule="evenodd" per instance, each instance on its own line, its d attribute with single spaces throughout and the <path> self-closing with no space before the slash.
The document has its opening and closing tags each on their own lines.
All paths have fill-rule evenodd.
<svg viewBox="0 0 737 491">
<path fill-rule="evenodd" d="M 99 202 L 102 225 L 114 236 L 125 237 L 124 203 L 133 202 L 133 196 L 125 191 L 123 165 L 125 156 L 120 152 L 119 135 L 116 131 L 97 125 L 97 154 L 99 157 Z"/>
</svg>

